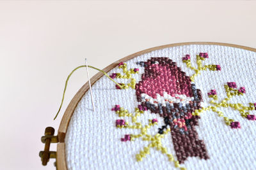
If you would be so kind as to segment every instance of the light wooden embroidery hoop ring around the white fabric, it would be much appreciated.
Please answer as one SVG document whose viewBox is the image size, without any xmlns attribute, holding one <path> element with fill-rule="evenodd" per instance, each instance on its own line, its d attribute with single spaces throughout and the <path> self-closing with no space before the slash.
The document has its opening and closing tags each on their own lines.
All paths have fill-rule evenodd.
<svg viewBox="0 0 256 170">
<path fill-rule="evenodd" d="M 138 57 L 140 55 L 143 55 L 145 53 L 152 52 L 154 50 L 160 50 L 163 48 L 169 48 L 173 46 L 182 46 L 182 45 L 220 45 L 220 46 L 230 46 L 235 48 L 241 48 L 244 50 L 250 50 L 252 52 L 256 52 L 256 48 L 250 48 L 248 46 L 240 46 L 240 45 L 234 45 L 229 43 L 212 43 L 212 42 L 188 42 L 188 43 L 175 43 L 170 45 L 163 45 L 163 46 L 156 46 L 154 48 L 148 48 L 147 50 L 143 50 L 141 52 L 133 53 L 132 55 L 128 55 L 127 57 L 124 57 L 120 60 L 117 60 L 116 62 L 113 62 L 109 66 L 105 67 L 103 71 L 108 73 L 111 69 L 118 66 L 120 62 L 125 62 L 127 60 L 131 60 L 134 57 Z M 103 73 L 97 73 L 95 76 L 93 76 L 90 80 L 92 85 L 104 76 Z M 84 96 L 84 94 L 89 90 L 88 82 L 79 89 L 79 91 L 76 93 L 76 95 L 73 97 L 72 101 L 68 104 L 68 107 L 61 119 L 60 127 L 58 129 L 58 135 L 56 138 L 58 139 L 58 145 L 57 145 L 57 152 L 56 152 L 56 167 L 57 169 L 63 169 L 67 170 L 67 164 L 65 159 L 65 135 L 67 133 L 68 124 L 70 122 L 70 118 L 72 117 L 74 110 L 76 109 L 77 104 L 81 100 L 81 98 Z"/>
</svg>

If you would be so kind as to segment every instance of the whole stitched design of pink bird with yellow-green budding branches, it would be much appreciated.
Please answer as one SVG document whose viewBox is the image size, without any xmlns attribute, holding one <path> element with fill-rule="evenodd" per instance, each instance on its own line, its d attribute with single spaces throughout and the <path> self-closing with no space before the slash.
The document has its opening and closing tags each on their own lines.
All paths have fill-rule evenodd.
<svg viewBox="0 0 256 170">
<path fill-rule="evenodd" d="M 255 120 L 255 115 L 249 115 L 249 113 L 245 111 L 254 110 L 256 103 L 250 103 L 250 107 L 243 106 L 243 104 L 227 103 L 230 97 L 243 95 L 246 92 L 244 87 L 240 87 L 240 89 L 237 90 L 235 82 L 228 82 L 227 85 L 224 85 L 228 96 L 227 98 L 223 99 L 220 103 L 216 103 L 216 100 L 218 100 L 216 90 L 211 90 L 208 96 L 214 99 L 211 101 L 211 104 L 214 104 L 214 106 L 208 106 L 207 108 L 200 107 L 200 102 L 202 101 L 201 91 L 196 89 L 195 84 L 191 81 L 195 80 L 195 76 L 200 74 L 200 71 L 206 70 L 207 68 L 210 71 L 221 70 L 220 65 L 202 66 L 202 60 L 208 57 L 208 53 L 199 53 L 199 55 L 196 55 L 197 69 L 191 66 L 190 55 L 187 54 L 186 57 L 182 58 L 182 61 L 186 63 L 187 67 L 196 72 L 191 77 L 186 76 L 186 73 L 181 71 L 180 67 L 177 67 L 177 64 L 167 57 L 154 57 L 148 59 L 147 62 L 137 62 L 137 64 L 145 67 L 145 73 L 141 74 L 141 81 L 136 83 L 136 85 L 131 85 L 130 83 L 124 86 L 126 89 L 129 86 L 131 86 L 132 89 L 134 89 L 134 87 L 136 89 L 137 101 L 141 103 L 141 105 L 136 108 L 136 115 L 132 116 L 132 113 L 128 113 L 127 110 L 120 108 L 119 105 L 116 105 L 112 110 L 115 110 L 119 117 L 132 117 L 132 122 L 136 124 L 129 125 L 125 120 L 116 120 L 116 127 L 143 130 L 141 130 L 141 134 L 138 135 L 125 134 L 125 137 L 121 138 L 121 141 L 131 141 L 133 138 L 141 137 L 143 137 L 143 140 L 152 138 L 152 136 L 148 136 L 147 132 L 145 132 L 146 129 L 153 125 L 152 120 L 149 120 L 149 124 L 146 127 L 141 127 L 141 124 L 136 122 L 136 117 L 140 116 L 140 113 L 143 113 L 145 110 L 150 110 L 151 113 L 159 113 L 159 115 L 164 118 L 165 125 L 159 128 L 158 133 L 166 134 L 166 132 L 169 131 L 172 133 L 173 146 L 179 160 L 175 163 L 175 166 L 179 167 L 178 165 L 184 163 L 187 157 L 209 159 L 204 141 L 198 138 L 195 129 L 195 125 L 198 125 L 198 118 L 200 118 L 199 113 L 202 111 L 212 110 L 218 113 L 218 116 L 223 117 L 225 123 L 230 125 L 232 129 L 241 128 L 239 122 L 235 122 L 233 119 L 223 116 L 223 113 L 218 111 L 217 108 L 231 107 L 238 110 L 243 117 L 249 120 Z M 120 73 L 113 73 L 111 75 L 113 78 L 131 78 L 131 71 L 135 73 L 135 69 L 131 69 L 131 71 L 128 72 L 129 76 L 127 76 L 127 65 L 123 62 L 119 64 L 119 68 L 122 68 L 123 73 L 126 75 L 121 76 Z M 136 73 L 138 73 L 138 71 L 139 69 L 136 69 Z M 134 79 L 132 80 L 135 82 Z M 116 86 L 116 89 L 120 88 Z M 156 143 L 156 141 L 153 140 L 152 143 Z M 151 146 L 151 144 L 149 146 Z M 161 147 L 162 150 L 166 150 L 163 146 L 157 146 L 156 148 L 160 150 L 159 148 Z M 144 151 L 141 151 L 140 154 L 136 155 L 136 159 L 142 160 L 141 158 L 145 157 L 148 153 L 149 148 L 146 148 Z M 169 159 L 171 157 L 171 160 L 173 160 L 173 156 L 170 153 L 166 154 Z"/>
</svg>

